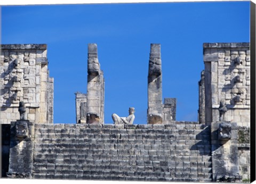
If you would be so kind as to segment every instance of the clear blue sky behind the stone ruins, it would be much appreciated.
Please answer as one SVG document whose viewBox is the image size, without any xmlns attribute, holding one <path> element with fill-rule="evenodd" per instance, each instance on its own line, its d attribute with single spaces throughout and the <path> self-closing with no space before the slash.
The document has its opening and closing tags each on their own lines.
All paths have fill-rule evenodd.
<svg viewBox="0 0 256 184">
<path fill-rule="evenodd" d="M 150 43 L 162 46 L 163 98 L 177 98 L 177 120 L 197 121 L 203 43 L 250 41 L 249 1 L 2 6 L 1 17 L 2 44 L 47 44 L 54 123 L 76 122 L 88 43 L 104 71 L 105 123 L 133 106 L 144 124 Z"/>
</svg>

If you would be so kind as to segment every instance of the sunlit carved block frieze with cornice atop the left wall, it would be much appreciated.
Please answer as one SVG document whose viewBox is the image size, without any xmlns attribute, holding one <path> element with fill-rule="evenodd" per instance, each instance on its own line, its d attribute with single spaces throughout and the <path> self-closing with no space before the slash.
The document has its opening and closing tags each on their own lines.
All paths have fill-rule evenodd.
<svg viewBox="0 0 256 184">
<path fill-rule="evenodd" d="M 41 65 L 47 64 L 46 45 L 15 44 L 1 48 L 1 106 L 17 107 L 23 101 L 29 107 L 39 107 Z"/>
</svg>

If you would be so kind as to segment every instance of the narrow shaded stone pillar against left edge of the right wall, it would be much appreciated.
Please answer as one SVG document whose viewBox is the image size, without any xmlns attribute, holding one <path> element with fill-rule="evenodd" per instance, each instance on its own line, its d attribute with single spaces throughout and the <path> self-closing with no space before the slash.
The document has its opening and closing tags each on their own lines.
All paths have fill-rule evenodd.
<svg viewBox="0 0 256 184">
<path fill-rule="evenodd" d="M 205 124 L 205 87 L 204 87 L 204 70 L 201 72 L 201 80 L 198 82 L 199 87 L 199 109 L 198 121 L 200 124 Z"/>
</svg>

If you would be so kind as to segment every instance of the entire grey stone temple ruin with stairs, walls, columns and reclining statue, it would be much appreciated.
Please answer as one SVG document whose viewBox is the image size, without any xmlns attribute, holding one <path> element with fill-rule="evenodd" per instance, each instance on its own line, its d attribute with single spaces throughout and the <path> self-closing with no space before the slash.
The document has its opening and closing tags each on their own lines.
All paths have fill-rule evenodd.
<svg viewBox="0 0 256 184">
<path fill-rule="evenodd" d="M 105 124 L 105 80 L 97 45 L 89 44 L 87 92 L 75 93 L 76 123 L 54 124 L 46 53 L 45 44 L 1 45 L 2 177 L 250 180 L 249 43 L 203 45 L 197 122 L 176 120 L 176 98 L 163 102 L 165 61 L 161 45 L 151 44 L 147 124 L 133 123 L 132 107 L 130 119 L 113 114 L 116 123 Z"/>
</svg>

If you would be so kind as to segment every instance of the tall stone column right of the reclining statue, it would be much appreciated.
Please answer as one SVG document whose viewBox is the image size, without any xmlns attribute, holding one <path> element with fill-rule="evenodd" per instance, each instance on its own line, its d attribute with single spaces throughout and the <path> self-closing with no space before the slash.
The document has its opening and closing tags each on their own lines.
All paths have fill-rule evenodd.
<svg viewBox="0 0 256 184">
<path fill-rule="evenodd" d="M 162 115 L 163 106 L 161 45 L 151 44 L 148 68 L 148 123 L 162 124 Z"/>
</svg>

